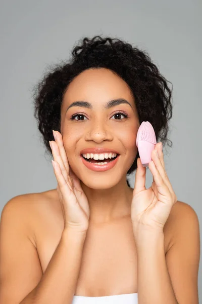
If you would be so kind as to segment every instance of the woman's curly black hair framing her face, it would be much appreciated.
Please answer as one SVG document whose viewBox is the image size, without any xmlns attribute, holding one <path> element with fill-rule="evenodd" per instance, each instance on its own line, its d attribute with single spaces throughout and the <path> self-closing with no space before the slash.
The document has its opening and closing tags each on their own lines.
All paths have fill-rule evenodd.
<svg viewBox="0 0 202 304">
<path fill-rule="evenodd" d="M 146 51 L 123 40 L 96 35 L 85 37 L 71 52 L 68 62 L 48 66 L 48 71 L 33 88 L 34 117 L 42 134 L 46 151 L 52 156 L 49 140 L 52 130 L 61 132 L 61 105 L 68 85 L 82 71 L 105 67 L 121 77 L 131 89 L 139 123 L 148 121 L 155 130 L 157 141 L 167 139 L 168 121 L 172 118 L 172 89 Z M 172 146 L 172 141 L 170 141 Z M 127 175 L 136 170 L 139 153 Z M 127 184 L 129 182 L 127 180 Z"/>
</svg>

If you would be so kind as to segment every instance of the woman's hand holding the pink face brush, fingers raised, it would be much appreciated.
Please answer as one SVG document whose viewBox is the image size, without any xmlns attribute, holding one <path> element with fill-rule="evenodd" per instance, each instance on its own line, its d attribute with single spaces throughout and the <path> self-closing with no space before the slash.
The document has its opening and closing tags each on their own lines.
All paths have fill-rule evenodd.
<svg viewBox="0 0 202 304">
<path fill-rule="evenodd" d="M 151 153 L 148 165 L 153 174 L 151 187 L 145 188 L 146 168 L 138 158 L 138 167 L 135 175 L 135 186 L 131 203 L 131 220 L 135 232 L 142 229 L 163 232 L 172 206 L 177 202 L 176 195 L 165 171 L 164 156 L 161 142 L 156 144 Z"/>
</svg>

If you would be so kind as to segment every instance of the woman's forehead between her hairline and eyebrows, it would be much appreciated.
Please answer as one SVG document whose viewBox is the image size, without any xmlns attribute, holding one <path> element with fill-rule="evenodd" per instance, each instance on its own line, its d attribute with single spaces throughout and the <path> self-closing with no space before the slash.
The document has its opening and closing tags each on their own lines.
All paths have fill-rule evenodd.
<svg viewBox="0 0 202 304">
<path fill-rule="evenodd" d="M 63 103 L 69 105 L 76 100 L 86 100 L 100 104 L 115 98 L 125 98 L 134 104 L 132 92 L 121 77 L 107 68 L 97 68 L 77 75 L 69 84 Z"/>
</svg>

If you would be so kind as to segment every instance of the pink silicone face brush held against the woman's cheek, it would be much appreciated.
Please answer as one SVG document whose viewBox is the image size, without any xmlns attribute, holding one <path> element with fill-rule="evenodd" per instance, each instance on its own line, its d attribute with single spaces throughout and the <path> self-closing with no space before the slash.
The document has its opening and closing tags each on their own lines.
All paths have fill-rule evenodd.
<svg viewBox="0 0 202 304">
<path fill-rule="evenodd" d="M 149 122 L 142 122 L 137 131 L 136 145 L 143 167 L 147 167 L 148 163 L 152 161 L 151 152 L 155 149 L 156 144 L 157 139 L 153 126 Z"/>
</svg>

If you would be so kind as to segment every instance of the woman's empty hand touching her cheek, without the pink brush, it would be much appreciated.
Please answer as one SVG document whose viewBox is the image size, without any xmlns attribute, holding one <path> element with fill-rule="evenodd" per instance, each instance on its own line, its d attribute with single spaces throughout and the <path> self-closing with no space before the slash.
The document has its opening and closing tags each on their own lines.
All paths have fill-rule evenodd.
<svg viewBox="0 0 202 304">
<path fill-rule="evenodd" d="M 85 233 L 90 216 L 88 200 L 81 188 L 80 179 L 69 166 L 61 133 L 55 131 L 54 138 L 55 141 L 49 141 L 49 144 L 54 158 L 53 166 L 58 181 L 57 192 L 63 211 L 64 229 L 71 228 L 73 231 Z"/>
</svg>

